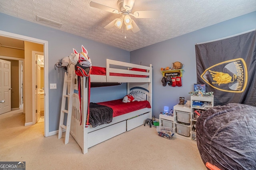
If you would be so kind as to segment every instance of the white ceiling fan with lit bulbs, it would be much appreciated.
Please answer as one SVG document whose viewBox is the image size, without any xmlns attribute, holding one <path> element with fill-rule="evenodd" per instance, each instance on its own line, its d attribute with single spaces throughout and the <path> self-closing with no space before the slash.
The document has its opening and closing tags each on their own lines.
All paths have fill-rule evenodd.
<svg viewBox="0 0 256 170">
<path fill-rule="evenodd" d="M 126 27 L 126 30 L 132 29 L 134 33 L 140 31 L 140 28 L 135 23 L 134 20 L 131 19 L 130 16 L 134 16 L 135 18 L 154 18 L 159 15 L 158 10 L 147 10 L 147 11 L 136 11 L 132 13 L 132 9 L 134 7 L 134 1 L 135 0 L 118 0 L 117 1 L 117 7 L 118 10 L 98 4 L 96 2 L 91 1 L 90 6 L 94 8 L 98 8 L 100 10 L 105 10 L 108 12 L 112 12 L 114 14 L 120 14 L 120 18 L 116 18 L 113 21 L 111 21 L 108 25 L 106 25 L 105 29 L 110 29 L 114 26 L 121 28 L 123 23 Z"/>
</svg>

